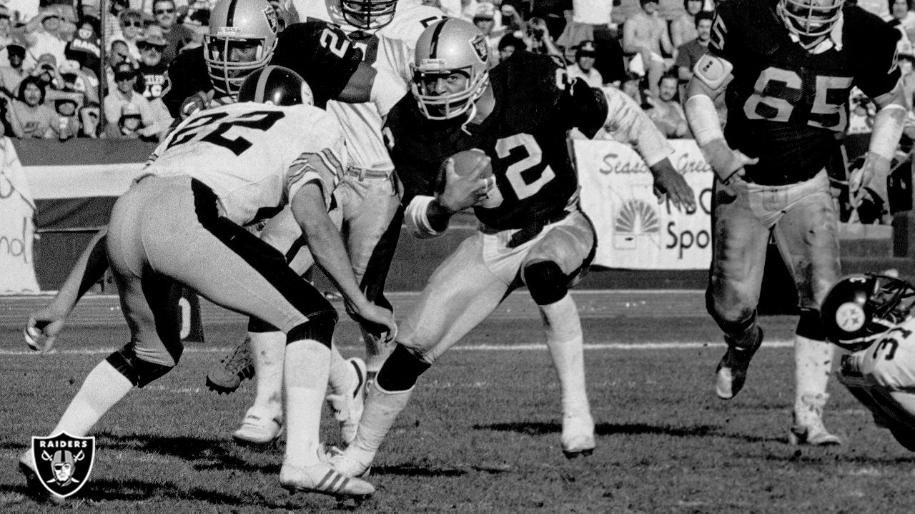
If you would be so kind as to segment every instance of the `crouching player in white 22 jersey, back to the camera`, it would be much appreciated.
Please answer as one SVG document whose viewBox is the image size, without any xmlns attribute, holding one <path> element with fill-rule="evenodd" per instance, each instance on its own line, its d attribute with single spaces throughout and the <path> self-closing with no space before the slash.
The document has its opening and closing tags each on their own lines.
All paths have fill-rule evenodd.
<svg viewBox="0 0 915 514">
<path fill-rule="evenodd" d="M 28 320 L 29 347 L 47 351 L 87 288 L 83 277 L 95 267 L 93 254 L 107 254 L 131 341 L 92 369 L 52 434 L 87 434 L 134 387 L 178 363 L 179 327 L 169 323 L 162 306 L 183 284 L 285 337 L 289 431 L 281 485 L 338 497 L 372 494 L 370 484 L 341 477 L 319 459 L 337 312 L 286 266 L 282 253 L 244 229 L 291 204 L 350 316 L 394 333 L 393 313 L 362 294 L 328 216 L 346 164 L 343 133 L 337 119 L 311 99 L 294 71 L 267 67 L 242 83 L 238 103 L 190 116 L 159 145 L 144 174 L 114 205 L 107 232 L 84 252 L 51 305 Z M 30 452 L 20 458 L 26 473 L 34 470 L 30 459 Z"/>
</svg>

